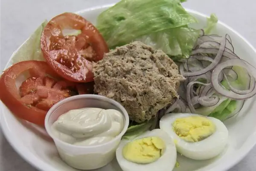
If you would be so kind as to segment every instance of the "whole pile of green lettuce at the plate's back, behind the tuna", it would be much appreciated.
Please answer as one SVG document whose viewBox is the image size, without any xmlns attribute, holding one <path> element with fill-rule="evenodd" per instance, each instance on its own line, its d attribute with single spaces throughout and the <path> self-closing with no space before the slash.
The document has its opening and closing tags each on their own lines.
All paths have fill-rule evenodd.
<svg viewBox="0 0 256 171">
<path fill-rule="evenodd" d="M 161 49 L 173 60 L 187 58 L 199 31 L 189 27 L 197 20 L 180 3 L 186 0 L 121 0 L 102 12 L 97 28 L 113 49 L 131 41 L 142 41 Z M 218 18 L 207 18 L 205 32 L 214 29 Z"/>
</svg>

